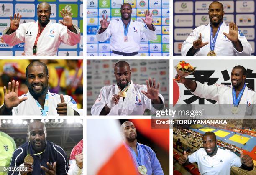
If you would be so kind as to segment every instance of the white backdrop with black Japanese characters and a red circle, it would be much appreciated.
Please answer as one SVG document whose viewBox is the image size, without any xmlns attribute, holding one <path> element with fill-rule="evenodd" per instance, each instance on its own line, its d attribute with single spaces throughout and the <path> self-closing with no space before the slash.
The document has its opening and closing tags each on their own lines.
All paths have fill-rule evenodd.
<svg viewBox="0 0 256 175">
<path fill-rule="evenodd" d="M 246 68 L 246 85 L 256 90 L 256 61 L 255 60 L 185 60 L 192 66 L 197 67 L 196 71 L 186 78 L 199 81 L 208 85 L 225 84 L 231 85 L 230 74 L 232 68 L 241 65 Z M 177 65 L 179 60 L 174 60 L 173 65 Z M 173 69 L 173 75 L 177 74 Z M 184 84 L 173 81 L 173 103 L 174 104 L 212 104 L 216 101 L 203 99 L 193 95 Z M 217 103 L 218 104 L 218 103 Z"/>
</svg>

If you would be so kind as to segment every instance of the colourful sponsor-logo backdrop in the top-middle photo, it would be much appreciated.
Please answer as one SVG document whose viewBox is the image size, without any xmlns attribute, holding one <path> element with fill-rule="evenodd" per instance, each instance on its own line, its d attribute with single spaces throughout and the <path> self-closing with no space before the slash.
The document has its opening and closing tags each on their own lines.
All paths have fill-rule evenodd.
<svg viewBox="0 0 256 175">
<path fill-rule="evenodd" d="M 97 42 L 96 33 L 102 15 L 108 15 L 109 20 L 121 17 L 123 3 L 131 4 L 132 20 L 143 23 L 141 18 L 145 18 L 145 11 L 153 13 L 157 39 L 147 41 L 141 38 L 139 56 L 169 56 L 169 0 L 87 0 L 87 56 L 110 56 L 110 40 Z"/>
</svg>

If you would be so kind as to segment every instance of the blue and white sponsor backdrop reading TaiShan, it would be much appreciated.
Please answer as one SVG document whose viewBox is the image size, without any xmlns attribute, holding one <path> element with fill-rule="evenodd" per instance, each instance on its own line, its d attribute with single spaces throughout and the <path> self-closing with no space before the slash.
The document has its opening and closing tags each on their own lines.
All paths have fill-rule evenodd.
<svg viewBox="0 0 256 175">
<path fill-rule="evenodd" d="M 81 30 L 81 41 L 75 46 L 61 44 L 58 56 L 82 56 L 83 55 L 83 0 L 0 0 L 0 55 L 1 56 L 22 56 L 24 43 L 16 46 L 9 46 L 4 43 L 2 32 L 10 26 L 10 16 L 14 13 L 22 15 L 20 23 L 37 21 L 36 8 L 43 1 L 51 5 L 50 20 L 58 23 L 62 20 L 60 10 L 66 9 L 72 13 L 73 24 Z"/>
</svg>

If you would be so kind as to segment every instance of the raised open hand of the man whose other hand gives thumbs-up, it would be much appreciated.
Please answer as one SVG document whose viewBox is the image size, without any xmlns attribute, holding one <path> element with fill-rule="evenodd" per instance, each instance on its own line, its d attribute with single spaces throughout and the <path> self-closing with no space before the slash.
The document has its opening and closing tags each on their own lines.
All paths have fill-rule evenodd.
<svg viewBox="0 0 256 175">
<path fill-rule="evenodd" d="M 13 80 L 8 83 L 8 91 L 6 91 L 6 87 L 4 86 L 4 103 L 7 109 L 12 109 L 13 107 L 17 107 L 22 101 L 28 99 L 28 97 L 20 98 L 18 96 L 18 88 L 19 82 Z"/>
</svg>

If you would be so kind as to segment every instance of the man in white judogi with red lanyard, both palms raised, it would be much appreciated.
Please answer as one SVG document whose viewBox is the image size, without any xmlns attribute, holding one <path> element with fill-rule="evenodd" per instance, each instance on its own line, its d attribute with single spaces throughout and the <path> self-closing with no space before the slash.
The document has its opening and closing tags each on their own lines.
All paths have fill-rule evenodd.
<svg viewBox="0 0 256 175">
<path fill-rule="evenodd" d="M 80 30 L 72 24 L 70 12 L 62 9 L 62 25 L 52 23 L 50 15 L 51 6 L 46 2 L 38 5 L 36 22 L 19 25 L 21 15 L 15 13 L 10 27 L 3 30 L 3 40 L 10 46 L 25 42 L 25 56 L 56 56 L 61 43 L 74 46 L 80 42 Z"/>
</svg>

